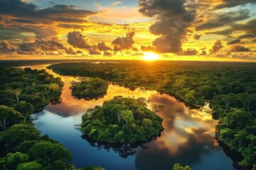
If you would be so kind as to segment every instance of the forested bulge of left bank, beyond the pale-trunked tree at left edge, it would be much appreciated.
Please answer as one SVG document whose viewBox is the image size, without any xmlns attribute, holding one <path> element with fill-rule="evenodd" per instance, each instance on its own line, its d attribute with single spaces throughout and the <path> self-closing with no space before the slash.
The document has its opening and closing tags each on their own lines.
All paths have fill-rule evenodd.
<svg viewBox="0 0 256 170">
<path fill-rule="evenodd" d="M 15 108 L 28 118 L 61 94 L 63 82 L 46 70 L 0 67 L 0 105 Z"/>
</svg>

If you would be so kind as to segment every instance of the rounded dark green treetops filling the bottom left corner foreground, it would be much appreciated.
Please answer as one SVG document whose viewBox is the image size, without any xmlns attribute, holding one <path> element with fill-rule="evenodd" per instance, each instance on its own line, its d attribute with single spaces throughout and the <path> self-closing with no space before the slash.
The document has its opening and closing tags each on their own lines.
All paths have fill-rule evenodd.
<svg viewBox="0 0 256 170">
<path fill-rule="evenodd" d="M 32 125 L 13 125 L 0 134 L 0 169 L 69 169 L 70 152 Z"/>
</svg>

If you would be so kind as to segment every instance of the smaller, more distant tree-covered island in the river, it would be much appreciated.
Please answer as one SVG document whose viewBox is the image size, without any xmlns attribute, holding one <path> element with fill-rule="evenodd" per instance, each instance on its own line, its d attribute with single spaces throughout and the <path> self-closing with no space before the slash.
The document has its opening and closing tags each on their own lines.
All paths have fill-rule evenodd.
<svg viewBox="0 0 256 170">
<path fill-rule="evenodd" d="M 91 100 L 104 96 L 107 87 L 107 82 L 100 78 L 82 78 L 79 82 L 73 82 L 71 89 L 73 96 Z"/>
</svg>

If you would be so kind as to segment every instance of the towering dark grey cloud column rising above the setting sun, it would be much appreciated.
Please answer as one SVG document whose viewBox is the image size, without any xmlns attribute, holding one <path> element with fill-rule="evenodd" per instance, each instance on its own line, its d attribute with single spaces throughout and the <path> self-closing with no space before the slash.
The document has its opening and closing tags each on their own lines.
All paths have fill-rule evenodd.
<svg viewBox="0 0 256 170">
<path fill-rule="evenodd" d="M 157 52 L 181 52 L 186 28 L 191 26 L 196 11 L 188 9 L 185 0 L 139 0 L 139 12 L 157 19 L 149 30 L 161 35 L 153 42 Z"/>
</svg>

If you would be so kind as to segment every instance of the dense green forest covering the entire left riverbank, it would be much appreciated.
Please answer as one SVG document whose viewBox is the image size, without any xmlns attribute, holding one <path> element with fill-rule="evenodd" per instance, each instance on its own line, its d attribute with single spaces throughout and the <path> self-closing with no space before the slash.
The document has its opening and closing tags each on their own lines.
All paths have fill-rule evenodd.
<svg viewBox="0 0 256 170">
<path fill-rule="evenodd" d="M 59 100 L 63 82 L 46 70 L 0 66 L 0 169 L 73 169 L 60 142 L 41 136 L 30 115 Z M 103 170 L 88 166 L 80 170 Z"/>
</svg>

